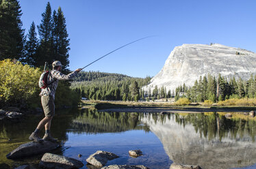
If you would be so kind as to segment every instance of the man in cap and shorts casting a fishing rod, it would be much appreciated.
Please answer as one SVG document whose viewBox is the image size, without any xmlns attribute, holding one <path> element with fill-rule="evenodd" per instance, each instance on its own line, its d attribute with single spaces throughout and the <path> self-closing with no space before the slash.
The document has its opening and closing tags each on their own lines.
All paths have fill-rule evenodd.
<svg viewBox="0 0 256 169">
<path fill-rule="evenodd" d="M 51 142 L 57 141 L 57 139 L 52 138 L 50 134 L 51 120 L 55 114 L 54 99 L 57 84 L 59 80 L 70 80 L 81 71 L 81 69 L 77 69 L 71 74 L 65 75 L 61 73 L 62 63 L 60 63 L 60 61 L 54 61 L 52 65 L 53 70 L 49 71 L 49 76 L 47 77 L 48 85 L 46 88 L 42 89 L 40 93 L 45 117 L 38 123 L 36 130 L 32 132 L 31 136 L 29 136 L 29 140 L 34 140 L 36 142 L 42 142 L 43 140 Z M 43 127 L 45 128 L 45 134 L 43 138 L 40 138 L 38 134 Z"/>
</svg>

